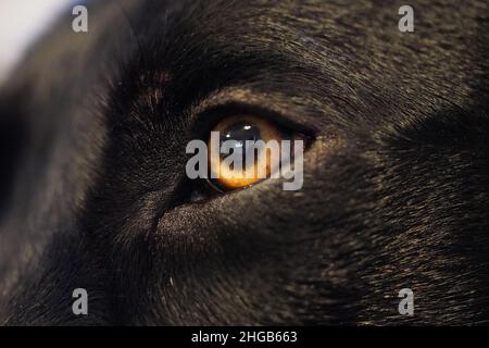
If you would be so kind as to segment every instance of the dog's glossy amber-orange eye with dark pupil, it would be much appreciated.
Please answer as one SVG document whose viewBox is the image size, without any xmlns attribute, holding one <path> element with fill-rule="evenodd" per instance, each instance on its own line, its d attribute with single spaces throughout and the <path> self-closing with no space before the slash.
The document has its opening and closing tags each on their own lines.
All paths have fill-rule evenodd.
<svg viewBox="0 0 489 348">
<path fill-rule="evenodd" d="M 290 135 L 254 115 L 222 120 L 208 142 L 210 183 L 233 190 L 253 185 L 279 169 L 280 142 Z"/>
</svg>

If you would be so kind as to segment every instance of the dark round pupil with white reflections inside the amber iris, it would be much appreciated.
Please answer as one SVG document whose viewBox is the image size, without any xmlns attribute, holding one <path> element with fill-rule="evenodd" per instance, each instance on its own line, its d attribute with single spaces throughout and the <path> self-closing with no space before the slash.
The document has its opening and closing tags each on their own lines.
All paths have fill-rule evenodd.
<svg viewBox="0 0 489 348">
<path fill-rule="evenodd" d="M 249 122 L 237 122 L 233 124 L 231 126 L 227 127 L 222 134 L 221 134 L 221 145 L 224 141 L 231 140 L 234 141 L 234 146 L 231 147 L 233 150 L 235 148 L 241 148 L 242 150 L 242 167 L 246 166 L 246 158 L 247 156 L 253 156 L 253 148 L 246 149 L 244 145 L 247 140 L 260 140 L 260 129 L 254 124 Z M 229 153 L 231 153 L 231 151 Z M 226 158 L 227 154 L 221 153 L 221 159 Z M 258 156 L 255 156 L 255 159 L 258 159 Z"/>
</svg>

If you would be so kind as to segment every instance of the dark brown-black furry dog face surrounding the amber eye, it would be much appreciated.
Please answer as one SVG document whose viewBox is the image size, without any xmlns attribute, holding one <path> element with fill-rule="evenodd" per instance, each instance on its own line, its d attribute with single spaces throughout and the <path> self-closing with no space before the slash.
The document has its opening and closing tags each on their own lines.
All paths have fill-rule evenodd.
<svg viewBox="0 0 489 348">
<path fill-rule="evenodd" d="M 487 323 L 487 3 L 402 4 L 67 11 L 0 96 L 0 321 Z M 300 190 L 187 177 L 237 114 L 305 135 Z"/>
</svg>

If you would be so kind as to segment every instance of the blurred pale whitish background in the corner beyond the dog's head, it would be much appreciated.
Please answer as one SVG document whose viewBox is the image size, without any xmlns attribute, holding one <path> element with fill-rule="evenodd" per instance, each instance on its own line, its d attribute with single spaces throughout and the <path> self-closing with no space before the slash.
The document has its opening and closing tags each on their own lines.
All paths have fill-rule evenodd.
<svg viewBox="0 0 489 348">
<path fill-rule="evenodd" d="M 75 3 L 73 0 L 0 0 L 0 84 L 57 15 L 61 11 L 71 12 Z"/>
</svg>

